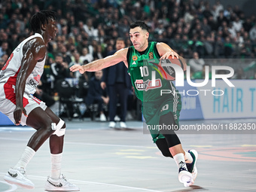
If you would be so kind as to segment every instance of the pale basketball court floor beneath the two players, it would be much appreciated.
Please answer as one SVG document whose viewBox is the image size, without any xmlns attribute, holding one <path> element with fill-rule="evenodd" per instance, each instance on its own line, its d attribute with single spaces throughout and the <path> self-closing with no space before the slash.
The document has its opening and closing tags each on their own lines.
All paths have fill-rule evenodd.
<svg viewBox="0 0 256 192">
<path fill-rule="evenodd" d="M 247 120 L 193 120 L 198 123 L 255 123 Z M 82 192 L 256 191 L 256 130 L 178 133 L 183 148 L 196 149 L 198 176 L 194 185 L 178 181 L 175 161 L 163 157 L 142 122 L 128 121 L 130 129 L 109 129 L 108 123 L 66 121 L 62 173 Z M 50 174 L 48 142 L 26 168 L 35 189 L 26 190 L 3 180 L 20 158 L 35 131 L 27 126 L 0 127 L 0 191 L 44 191 Z"/>
</svg>

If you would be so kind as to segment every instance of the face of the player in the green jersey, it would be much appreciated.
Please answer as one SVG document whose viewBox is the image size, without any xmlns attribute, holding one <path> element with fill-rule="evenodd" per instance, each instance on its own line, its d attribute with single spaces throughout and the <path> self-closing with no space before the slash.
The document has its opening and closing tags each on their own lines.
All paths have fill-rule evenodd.
<svg viewBox="0 0 256 192">
<path fill-rule="evenodd" d="M 133 46 L 138 51 L 143 51 L 148 47 L 148 36 L 149 33 L 146 30 L 142 30 L 139 26 L 130 29 L 130 40 Z"/>
</svg>

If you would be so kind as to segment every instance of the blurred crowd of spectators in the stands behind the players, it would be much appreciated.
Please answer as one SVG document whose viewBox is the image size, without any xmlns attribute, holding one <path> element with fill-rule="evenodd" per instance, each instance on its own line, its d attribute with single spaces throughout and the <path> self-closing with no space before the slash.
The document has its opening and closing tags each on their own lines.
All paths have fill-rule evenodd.
<svg viewBox="0 0 256 192">
<path fill-rule="evenodd" d="M 208 65 L 204 59 L 256 57 L 255 15 L 245 16 L 238 5 L 224 7 L 221 1 L 210 5 L 207 0 L 5 0 L 0 3 L 0 69 L 20 41 L 32 35 L 29 19 L 43 9 L 58 14 L 58 32 L 47 47 L 38 87 L 40 94 L 52 98 L 56 82 L 65 78 L 73 78 L 72 87 L 80 89 L 76 96 L 85 98 L 94 73 L 72 73 L 69 67 L 107 56 L 117 38 L 131 46 L 129 25 L 136 20 L 150 26 L 150 41 L 165 42 L 187 58 L 192 78 L 203 78 L 203 67 Z M 255 66 L 237 69 L 235 78 L 255 78 L 243 75 Z"/>
</svg>

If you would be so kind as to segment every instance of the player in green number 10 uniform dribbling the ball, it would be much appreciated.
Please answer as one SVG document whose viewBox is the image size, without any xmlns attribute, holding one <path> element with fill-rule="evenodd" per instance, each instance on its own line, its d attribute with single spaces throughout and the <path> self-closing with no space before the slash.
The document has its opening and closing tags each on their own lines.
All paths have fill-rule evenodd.
<svg viewBox="0 0 256 192">
<path fill-rule="evenodd" d="M 95 72 L 100 69 L 124 62 L 130 73 L 130 78 L 136 96 L 142 101 L 142 114 L 148 125 L 154 143 L 165 157 L 172 157 L 178 166 L 178 180 L 185 187 L 194 184 L 197 177 L 197 151 L 184 151 L 175 129 L 158 130 L 159 125 L 178 127 L 179 112 L 181 110 L 181 96 L 176 93 L 171 81 L 162 78 L 157 70 L 159 59 L 179 57 L 167 44 L 148 42 L 148 26 L 143 21 L 136 21 L 130 25 L 130 40 L 133 46 L 118 50 L 114 55 L 90 62 L 87 65 L 75 65 L 72 72 Z M 184 65 L 186 63 L 184 62 Z M 154 81 L 152 81 L 154 77 Z M 161 96 L 160 90 L 172 90 L 171 94 Z"/>
</svg>

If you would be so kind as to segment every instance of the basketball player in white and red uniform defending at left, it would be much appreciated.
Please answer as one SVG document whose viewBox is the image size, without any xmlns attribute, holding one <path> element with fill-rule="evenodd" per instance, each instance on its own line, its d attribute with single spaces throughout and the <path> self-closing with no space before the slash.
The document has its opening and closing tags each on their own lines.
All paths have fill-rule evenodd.
<svg viewBox="0 0 256 192">
<path fill-rule="evenodd" d="M 56 13 L 40 11 L 30 20 L 31 31 L 35 35 L 26 38 L 11 53 L 0 71 L 0 111 L 16 125 L 35 128 L 17 164 L 8 170 L 5 181 L 28 189 L 34 184 L 26 178 L 26 166 L 38 148 L 50 138 L 51 170 L 45 184 L 46 190 L 79 190 L 61 174 L 63 139 L 66 123 L 44 102 L 32 96 L 41 75 L 47 43 L 56 36 Z"/>
</svg>

